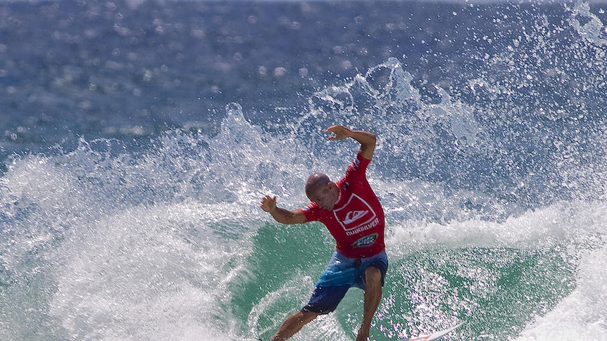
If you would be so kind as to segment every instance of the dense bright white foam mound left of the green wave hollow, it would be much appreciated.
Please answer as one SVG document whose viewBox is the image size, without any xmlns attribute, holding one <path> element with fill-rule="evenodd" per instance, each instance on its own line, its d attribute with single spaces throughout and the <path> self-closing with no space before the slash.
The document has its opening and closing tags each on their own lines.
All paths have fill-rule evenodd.
<svg viewBox="0 0 607 341">
<path fill-rule="evenodd" d="M 233 340 L 227 283 L 246 243 L 220 236 L 236 208 L 218 209 L 137 207 L 75 228 L 55 252 L 49 313 L 74 340 Z"/>
</svg>

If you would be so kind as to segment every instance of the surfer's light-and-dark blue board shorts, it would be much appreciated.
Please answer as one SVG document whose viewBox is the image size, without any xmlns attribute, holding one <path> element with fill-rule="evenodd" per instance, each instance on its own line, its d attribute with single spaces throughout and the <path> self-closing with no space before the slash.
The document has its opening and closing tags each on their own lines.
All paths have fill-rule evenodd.
<svg viewBox="0 0 607 341">
<path fill-rule="evenodd" d="M 320 275 L 310 301 L 301 308 L 301 311 L 311 311 L 317 314 L 328 314 L 334 311 L 350 288 L 356 287 L 365 290 L 365 270 L 369 266 L 380 270 L 383 286 L 388 270 L 388 257 L 385 251 L 363 259 L 346 258 L 335 251 L 327 269 Z"/>
</svg>

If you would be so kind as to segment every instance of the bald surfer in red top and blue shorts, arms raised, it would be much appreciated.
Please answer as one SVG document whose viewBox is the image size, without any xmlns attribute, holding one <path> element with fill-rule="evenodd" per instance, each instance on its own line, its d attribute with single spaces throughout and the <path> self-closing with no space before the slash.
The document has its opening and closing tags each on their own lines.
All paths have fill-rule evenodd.
<svg viewBox="0 0 607 341">
<path fill-rule="evenodd" d="M 375 135 L 342 125 L 325 130 L 334 134 L 331 141 L 354 139 L 361 143 L 356 158 L 344 177 L 330 181 L 322 173 L 306 181 L 310 203 L 303 208 L 286 210 L 276 205 L 276 197 L 265 195 L 261 208 L 282 224 L 320 221 L 335 238 L 335 252 L 325 272 L 320 275 L 310 300 L 300 311 L 287 317 L 272 341 L 287 340 L 320 314 L 328 314 L 342 301 L 349 288 L 364 290 L 363 321 L 356 341 L 366 341 L 373 315 L 382 299 L 382 286 L 388 268 L 384 250 L 384 211 L 369 186 L 366 169 L 375 150 Z"/>
</svg>

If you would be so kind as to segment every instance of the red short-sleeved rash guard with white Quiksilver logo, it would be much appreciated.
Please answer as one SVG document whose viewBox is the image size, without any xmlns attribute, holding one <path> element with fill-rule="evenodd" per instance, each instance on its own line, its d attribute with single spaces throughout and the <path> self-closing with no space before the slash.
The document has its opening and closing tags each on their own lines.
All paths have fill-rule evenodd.
<svg viewBox="0 0 607 341">
<path fill-rule="evenodd" d="M 344 177 L 337 181 L 339 199 L 332 211 L 315 202 L 301 211 L 306 221 L 320 221 L 335 238 L 335 248 L 348 258 L 365 258 L 382 252 L 384 245 L 384 210 L 365 171 L 371 160 L 360 154 L 351 162 Z"/>
</svg>

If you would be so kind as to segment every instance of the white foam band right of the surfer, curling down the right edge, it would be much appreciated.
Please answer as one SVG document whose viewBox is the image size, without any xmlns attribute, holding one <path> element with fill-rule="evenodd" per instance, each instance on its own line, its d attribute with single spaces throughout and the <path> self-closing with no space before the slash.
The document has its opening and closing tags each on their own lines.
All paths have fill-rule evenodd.
<svg viewBox="0 0 607 341">
<path fill-rule="evenodd" d="M 607 340 L 607 207 L 604 202 L 567 202 L 506 221 L 405 221 L 389 233 L 392 257 L 428 247 L 508 247 L 550 250 L 575 266 L 575 289 L 544 316 L 535 316 L 515 340 Z M 565 281 L 565 278 L 553 278 Z"/>
</svg>

